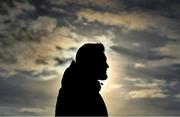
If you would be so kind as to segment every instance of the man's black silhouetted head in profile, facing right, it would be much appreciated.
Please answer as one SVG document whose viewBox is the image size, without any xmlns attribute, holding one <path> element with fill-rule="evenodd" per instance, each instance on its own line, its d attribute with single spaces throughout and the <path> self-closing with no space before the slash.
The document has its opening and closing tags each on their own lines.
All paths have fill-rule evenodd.
<svg viewBox="0 0 180 117">
<path fill-rule="evenodd" d="M 109 66 L 101 43 L 87 43 L 80 47 L 76 54 L 76 64 L 96 80 L 107 79 Z"/>
</svg>

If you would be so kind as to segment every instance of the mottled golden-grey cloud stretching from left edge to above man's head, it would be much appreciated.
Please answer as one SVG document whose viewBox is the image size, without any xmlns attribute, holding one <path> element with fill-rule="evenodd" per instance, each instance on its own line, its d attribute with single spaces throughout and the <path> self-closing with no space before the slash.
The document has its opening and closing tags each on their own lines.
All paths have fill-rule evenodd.
<svg viewBox="0 0 180 117">
<path fill-rule="evenodd" d="M 57 26 L 57 20 L 48 16 L 39 16 L 26 23 L 20 22 L 15 29 L 10 28 L 15 22 L 6 26 L 10 32 L 5 34 L 7 37 L 0 45 L 2 68 L 27 71 L 54 69 L 62 74 L 64 67 L 74 58 L 75 51 L 82 44 L 102 42 L 107 47 L 113 44 L 110 35 L 96 35 L 92 39 L 74 32 L 69 27 Z M 54 58 L 59 58 L 61 62 Z"/>
</svg>

